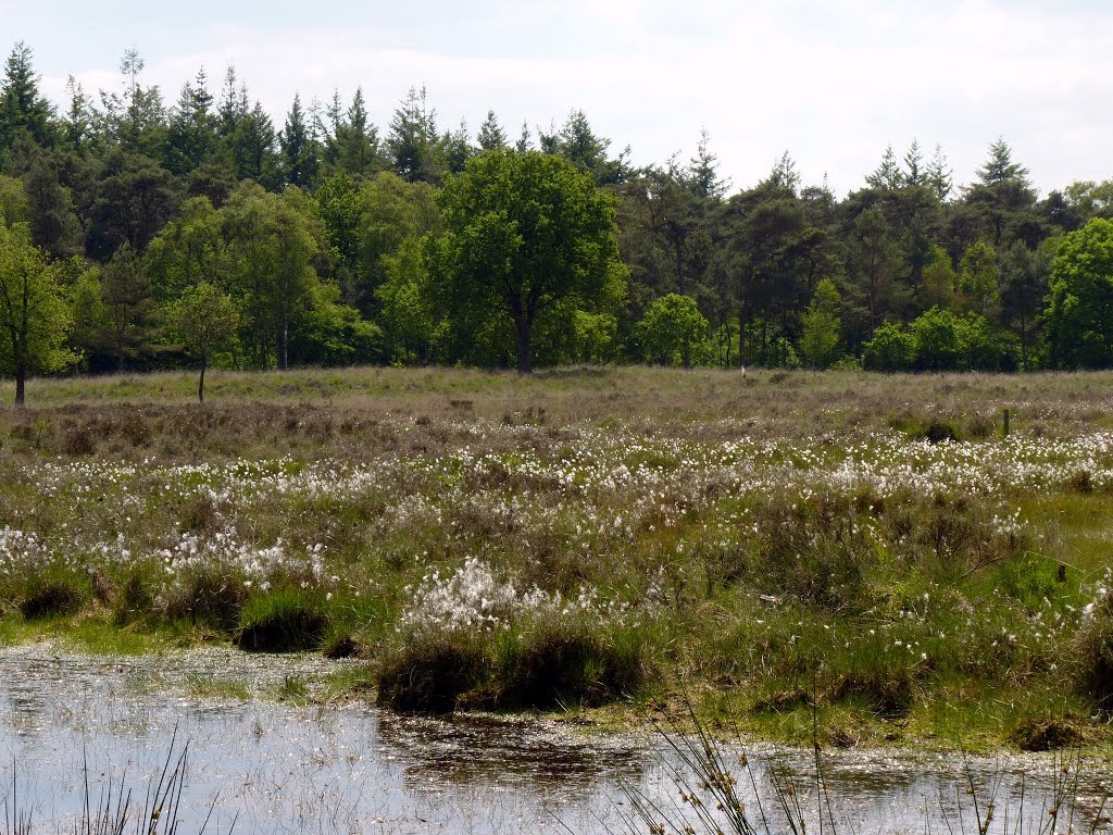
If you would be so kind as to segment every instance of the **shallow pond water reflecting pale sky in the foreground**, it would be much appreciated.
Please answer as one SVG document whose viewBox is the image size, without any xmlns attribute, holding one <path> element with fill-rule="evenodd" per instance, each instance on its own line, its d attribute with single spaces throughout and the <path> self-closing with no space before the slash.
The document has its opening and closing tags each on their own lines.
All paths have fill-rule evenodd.
<svg viewBox="0 0 1113 835">
<path fill-rule="evenodd" d="M 70 828 L 58 818 L 77 813 L 85 763 L 93 798 L 109 782 L 141 794 L 175 729 L 179 745 L 189 744 L 183 816 L 199 824 L 216 798 L 220 828 L 235 814 L 237 833 L 567 832 L 563 824 L 578 833 L 623 832 L 629 803 L 620 782 L 667 808 L 678 800 L 676 757 L 660 743 L 647 750 L 530 719 L 444 721 L 361 703 L 294 707 L 183 695 L 190 680 L 214 672 L 274 692 L 287 675 L 319 678 L 325 664 L 224 651 L 104 661 L 0 650 L 0 806 L 10 800 L 14 765 L 19 805 L 33 812 L 40 831 Z M 751 816 L 761 798 L 779 831 L 775 784 L 790 782 L 809 831 L 818 832 L 814 758 L 751 749 L 750 760 L 740 794 Z M 825 753 L 821 764 L 837 829 L 976 831 L 959 757 Z M 1023 828 L 1038 831 L 1053 773 L 1047 758 L 972 758 L 969 768 L 983 809 L 996 796 L 993 831 L 1018 831 L 1022 785 L 1031 816 Z M 1086 807 L 1105 776 L 1097 765 L 1085 767 Z"/>
</svg>

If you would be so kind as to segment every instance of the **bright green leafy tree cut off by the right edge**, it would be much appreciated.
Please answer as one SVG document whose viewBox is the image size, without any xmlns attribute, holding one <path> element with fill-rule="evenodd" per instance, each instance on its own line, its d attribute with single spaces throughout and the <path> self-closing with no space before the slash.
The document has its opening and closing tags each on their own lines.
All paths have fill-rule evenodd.
<svg viewBox="0 0 1113 835">
<path fill-rule="evenodd" d="M 1063 238 L 1046 320 L 1054 367 L 1113 365 L 1113 220 L 1095 217 Z"/>
</svg>

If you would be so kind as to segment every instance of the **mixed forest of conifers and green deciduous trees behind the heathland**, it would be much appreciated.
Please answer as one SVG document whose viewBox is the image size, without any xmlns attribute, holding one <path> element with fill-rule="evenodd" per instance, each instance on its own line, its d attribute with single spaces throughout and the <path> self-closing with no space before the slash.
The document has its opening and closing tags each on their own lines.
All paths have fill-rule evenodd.
<svg viewBox="0 0 1113 835">
<path fill-rule="evenodd" d="M 1002 139 L 964 186 L 913 141 L 843 199 L 787 153 L 732 191 L 706 132 L 637 167 L 582 111 L 473 134 L 417 88 L 382 132 L 358 88 L 277 127 L 232 68 L 167 105 L 135 50 L 58 109 L 32 58 L 0 81 L 18 400 L 29 374 L 185 363 L 1113 364 L 1113 181 L 1041 198 Z"/>
</svg>

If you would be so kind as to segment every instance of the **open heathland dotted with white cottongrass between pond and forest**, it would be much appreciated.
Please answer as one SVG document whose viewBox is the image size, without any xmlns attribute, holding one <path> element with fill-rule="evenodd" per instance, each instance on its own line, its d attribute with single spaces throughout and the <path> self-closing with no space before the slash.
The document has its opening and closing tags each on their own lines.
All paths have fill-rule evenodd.
<svg viewBox="0 0 1113 835">
<path fill-rule="evenodd" d="M 0 641 L 357 656 L 337 687 L 401 710 L 690 696 L 829 745 L 1106 739 L 1113 374 L 194 385 L 0 412 Z"/>
</svg>

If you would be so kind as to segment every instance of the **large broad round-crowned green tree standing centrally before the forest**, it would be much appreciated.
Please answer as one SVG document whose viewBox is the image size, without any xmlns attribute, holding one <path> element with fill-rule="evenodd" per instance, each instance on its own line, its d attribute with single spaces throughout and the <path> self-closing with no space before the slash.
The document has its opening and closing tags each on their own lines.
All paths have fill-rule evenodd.
<svg viewBox="0 0 1113 835">
<path fill-rule="evenodd" d="M 560 157 L 481 154 L 449 180 L 441 205 L 433 263 L 446 307 L 509 321 L 520 372 L 533 369 L 540 314 L 565 299 L 595 312 L 624 293 L 613 199 Z"/>
</svg>

